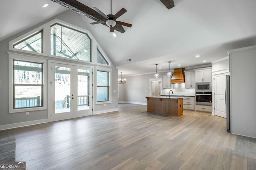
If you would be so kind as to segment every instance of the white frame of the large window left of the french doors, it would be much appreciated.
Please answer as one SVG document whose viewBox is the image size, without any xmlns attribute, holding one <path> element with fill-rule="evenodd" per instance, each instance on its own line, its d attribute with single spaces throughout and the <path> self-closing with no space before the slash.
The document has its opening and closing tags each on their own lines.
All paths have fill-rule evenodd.
<svg viewBox="0 0 256 170">
<path fill-rule="evenodd" d="M 8 53 L 9 54 L 9 113 L 18 113 L 18 112 L 25 112 L 25 111 L 37 111 L 37 110 L 46 110 L 47 109 L 47 59 L 42 57 L 34 57 L 29 55 L 23 55 L 23 54 L 16 54 L 16 53 Z M 14 60 L 20 60 L 20 61 L 26 61 L 26 62 L 34 62 L 34 63 L 42 63 L 43 68 L 43 106 L 42 107 L 31 107 L 31 108 L 20 108 L 20 109 L 14 109 L 13 108 L 13 61 Z"/>
</svg>

